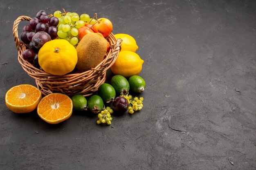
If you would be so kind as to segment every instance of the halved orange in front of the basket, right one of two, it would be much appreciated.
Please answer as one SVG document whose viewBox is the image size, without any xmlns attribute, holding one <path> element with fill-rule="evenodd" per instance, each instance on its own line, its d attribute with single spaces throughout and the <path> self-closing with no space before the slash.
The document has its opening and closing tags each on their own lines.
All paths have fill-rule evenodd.
<svg viewBox="0 0 256 170">
<path fill-rule="evenodd" d="M 58 124 L 72 115 L 73 103 L 70 97 L 61 93 L 49 94 L 37 106 L 38 116 L 49 124 Z"/>
</svg>

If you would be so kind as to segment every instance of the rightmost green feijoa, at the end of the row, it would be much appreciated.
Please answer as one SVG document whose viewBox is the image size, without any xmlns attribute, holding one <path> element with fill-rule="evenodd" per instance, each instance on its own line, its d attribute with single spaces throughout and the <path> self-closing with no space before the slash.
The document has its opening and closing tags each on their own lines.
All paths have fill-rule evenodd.
<svg viewBox="0 0 256 170">
<path fill-rule="evenodd" d="M 138 75 L 132 75 L 129 79 L 128 82 L 130 84 L 130 90 L 135 92 L 135 93 L 141 93 L 144 91 L 146 87 L 145 80 L 138 76 Z"/>
</svg>

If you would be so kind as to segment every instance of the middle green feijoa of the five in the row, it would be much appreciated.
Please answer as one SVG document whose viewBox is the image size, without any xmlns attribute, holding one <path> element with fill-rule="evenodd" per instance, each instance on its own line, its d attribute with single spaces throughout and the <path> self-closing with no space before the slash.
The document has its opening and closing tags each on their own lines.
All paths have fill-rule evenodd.
<svg viewBox="0 0 256 170">
<path fill-rule="evenodd" d="M 99 86 L 98 94 L 103 102 L 106 103 L 113 102 L 116 97 L 115 88 L 108 83 L 103 83 Z"/>
</svg>

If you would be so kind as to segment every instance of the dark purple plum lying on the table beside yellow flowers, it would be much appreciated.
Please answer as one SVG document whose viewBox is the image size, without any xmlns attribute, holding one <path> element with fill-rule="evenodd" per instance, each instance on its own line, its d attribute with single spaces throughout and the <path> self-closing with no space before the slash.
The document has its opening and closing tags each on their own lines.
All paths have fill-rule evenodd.
<svg viewBox="0 0 256 170">
<path fill-rule="evenodd" d="M 124 97 L 117 97 L 113 101 L 112 108 L 117 113 L 125 113 L 128 109 L 129 103 L 126 98 Z"/>
</svg>

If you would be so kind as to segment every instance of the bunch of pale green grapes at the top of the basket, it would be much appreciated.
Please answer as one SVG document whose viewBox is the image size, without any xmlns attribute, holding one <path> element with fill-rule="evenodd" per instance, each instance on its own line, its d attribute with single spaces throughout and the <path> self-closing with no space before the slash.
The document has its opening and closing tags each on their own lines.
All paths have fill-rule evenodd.
<svg viewBox="0 0 256 170">
<path fill-rule="evenodd" d="M 79 42 L 78 29 L 84 26 L 85 22 L 94 24 L 96 20 L 90 18 L 90 16 L 85 13 L 81 14 L 79 17 L 75 12 L 66 12 L 64 9 L 63 11 L 63 13 L 61 11 L 55 11 L 53 14 L 54 17 L 59 20 L 57 35 L 59 38 L 65 39 L 73 46 L 76 46 Z"/>
</svg>

